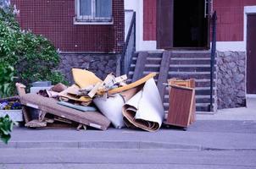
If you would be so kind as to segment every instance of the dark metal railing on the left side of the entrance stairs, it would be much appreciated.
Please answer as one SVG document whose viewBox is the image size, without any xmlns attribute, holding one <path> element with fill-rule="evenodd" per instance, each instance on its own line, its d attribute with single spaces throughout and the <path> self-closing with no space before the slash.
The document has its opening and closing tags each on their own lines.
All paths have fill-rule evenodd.
<svg viewBox="0 0 256 169">
<path fill-rule="evenodd" d="M 127 37 L 125 39 L 125 46 L 120 59 L 120 73 L 127 74 L 129 73 L 129 68 L 131 64 L 131 57 L 136 50 L 136 13 L 133 12 L 131 25 L 128 30 Z"/>
</svg>

